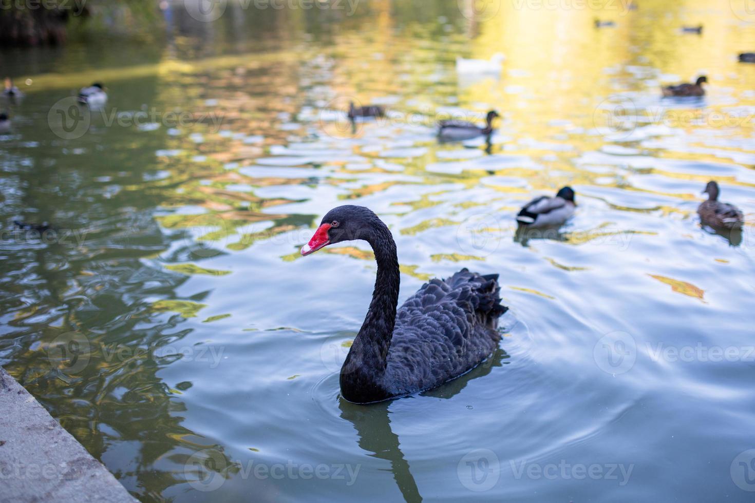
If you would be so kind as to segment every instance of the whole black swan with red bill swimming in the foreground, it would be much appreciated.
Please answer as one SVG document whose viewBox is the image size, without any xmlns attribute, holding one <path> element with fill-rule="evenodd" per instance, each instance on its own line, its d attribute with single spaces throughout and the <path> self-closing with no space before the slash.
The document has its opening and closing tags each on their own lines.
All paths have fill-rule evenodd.
<svg viewBox="0 0 755 503">
<path fill-rule="evenodd" d="M 465 268 L 424 284 L 397 308 L 401 273 L 396 242 L 369 208 L 330 210 L 301 255 L 353 240 L 372 247 L 377 280 L 365 321 L 341 367 L 345 400 L 373 403 L 436 388 L 469 372 L 498 348 L 498 318 L 508 310 L 501 305 L 498 275 Z"/>
</svg>

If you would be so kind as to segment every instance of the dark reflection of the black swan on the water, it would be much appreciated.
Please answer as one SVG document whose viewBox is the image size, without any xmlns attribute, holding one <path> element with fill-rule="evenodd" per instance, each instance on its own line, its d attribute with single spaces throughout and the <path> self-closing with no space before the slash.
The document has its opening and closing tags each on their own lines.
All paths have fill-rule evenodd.
<svg viewBox="0 0 755 503">
<path fill-rule="evenodd" d="M 451 398 L 455 397 L 467 386 L 467 382 L 478 377 L 487 376 L 493 367 L 501 367 L 503 360 L 509 355 L 501 348 L 496 349 L 487 360 L 480 363 L 470 372 L 459 376 L 444 385 L 430 391 L 421 393 L 423 397 Z M 395 398 L 393 400 L 401 400 Z M 351 422 L 359 434 L 359 447 L 370 452 L 370 455 L 390 462 L 393 479 L 396 486 L 408 503 L 422 501 L 414 476 L 411 474 L 410 465 L 401 451 L 399 437 L 390 427 L 389 407 L 393 400 L 385 400 L 369 405 L 358 405 L 344 400 L 339 395 L 339 408 L 341 418 Z"/>
</svg>

